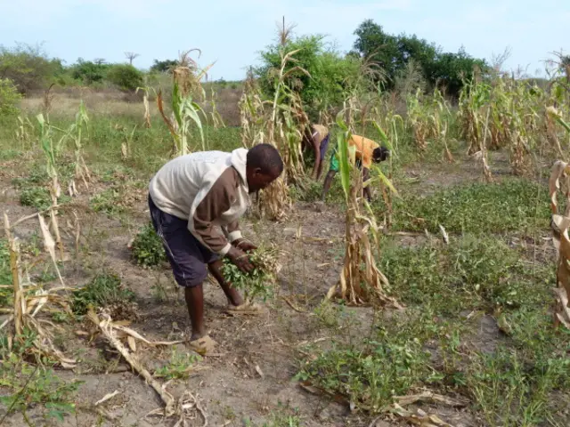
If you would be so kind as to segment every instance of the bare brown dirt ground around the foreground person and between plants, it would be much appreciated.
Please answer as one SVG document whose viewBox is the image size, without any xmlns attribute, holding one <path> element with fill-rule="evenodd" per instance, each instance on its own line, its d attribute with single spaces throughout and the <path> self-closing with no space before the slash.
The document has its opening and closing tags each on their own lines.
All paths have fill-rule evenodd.
<svg viewBox="0 0 570 427">
<path fill-rule="evenodd" d="M 405 176 L 415 181 L 411 187 L 421 192 L 458 181 L 476 181 L 481 173 L 470 164 L 443 164 L 432 169 L 422 167 L 421 172 L 409 168 Z M 19 204 L 10 178 L 4 173 L 0 183 L 0 210 L 7 211 L 13 220 L 33 214 L 32 208 Z M 151 341 L 182 339 L 183 330 L 189 324 L 188 315 L 183 295 L 175 288 L 169 270 L 143 270 L 130 261 L 128 243 L 137 228 L 148 221 L 144 194 L 139 198 L 132 206 L 134 214 L 128 226 L 105 214 L 91 213 L 81 217 L 86 249 L 79 261 L 67 263 L 64 278 L 69 286 L 77 287 L 83 285 L 94 271 L 115 271 L 123 284 L 136 294 L 139 317 L 130 327 Z M 85 197 L 79 197 L 79 203 L 86 203 Z M 305 426 L 400 425 L 386 420 L 370 424 L 368 415 L 351 414 L 345 404 L 304 391 L 293 381 L 300 346 L 307 342 L 330 340 L 331 330 L 318 321 L 314 308 L 338 280 L 344 235 L 344 216 L 340 210 L 334 205 L 322 207 L 313 203 L 297 203 L 283 222 L 265 222 L 250 216 L 242 223 L 248 238 L 272 241 L 281 246 L 283 267 L 277 297 L 267 302 L 269 312 L 264 316 L 232 317 L 224 313 L 226 302 L 221 289 L 214 282 L 208 283 L 205 286 L 206 322 L 208 333 L 218 342 L 216 354 L 197 361 L 187 380 L 173 381 L 167 390 L 175 396 L 185 390 L 197 396 L 210 426 L 248 425 L 248 419 L 249 425 L 262 425 L 271 420 L 272 414 L 293 414 L 295 408 L 298 408 L 300 424 Z M 35 222 L 26 222 L 17 228 L 21 238 L 34 232 L 37 232 Z M 401 243 L 413 245 L 416 239 L 403 236 Z M 72 246 L 69 239 L 66 245 Z M 158 296 L 159 289 L 166 290 L 162 297 Z M 359 328 L 366 330 L 370 326 L 370 309 L 349 311 L 360 322 Z M 492 346 L 500 339 L 498 328 L 488 318 L 480 321 L 480 334 L 474 340 Z M 149 426 L 174 423 L 146 416 L 161 407 L 158 395 L 116 354 L 102 350 L 96 343 L 86 342 L 74 333 L 69 329 L 67 336 L 61 339 L 61 345 L 69 354 L 79 357 L 81 363 L 74 372 L 59 370 L 57 375 L 77 378 L 85 383 L 77 393 L 77 415 L 66 417 L 65 422 L 58 425 Z M 190 351 L 183 344 L 177 350 Z M 169 347 L 145 348 L 141 351 L 142 360 L 153 372 L 168 363 L 171 352 Z M 113 391 L 118 391 L 118 396 L 102 405 L 105 416 L 87 409 Z M 478 425 L 468 412 L 449 407 L 431 408 L 452 425 Z M 44 423 L 35 410 L 29 411 L 28 416 L 37 425 Z M 25 423 L 21 415 L 16 414 L 11 415 L 4 425 L 20 426 Z M 198 413 L 191 425 L 203 425 Z"/>
</svg>

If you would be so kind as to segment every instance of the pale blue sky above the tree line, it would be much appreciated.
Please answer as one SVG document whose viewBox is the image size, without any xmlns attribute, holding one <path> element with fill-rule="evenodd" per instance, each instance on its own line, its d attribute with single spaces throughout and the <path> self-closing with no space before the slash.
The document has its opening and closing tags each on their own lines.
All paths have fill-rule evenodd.
<svg viewBox="0 0 570 427">
<path fill-rule="evenodd" d="M 238 80 L 273 43 L 283 16 L 295 34 L 325 35 L 341 52 L 371 19 L 446 52 L 463 46 L 492 60 L 509 48 L 504 68 L 529 75 L 543 75 L 552 52 L 570 53 L 570 0 L 0 0 L 0 44 L 43 43 L 68 64 L 125 61 L 125 52 L 136 52 L 138 68 L 199 48 L 199 65 L 216 61 L 210 79 Z"/>
</svg>

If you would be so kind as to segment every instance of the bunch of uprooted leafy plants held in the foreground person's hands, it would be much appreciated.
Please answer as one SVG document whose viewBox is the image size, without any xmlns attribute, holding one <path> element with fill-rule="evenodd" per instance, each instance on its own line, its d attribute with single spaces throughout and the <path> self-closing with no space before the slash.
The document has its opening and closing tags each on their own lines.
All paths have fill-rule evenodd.
<svg viewBox="0 0 570 427">
<path fill-rule="evenodd" d="M 258 247 L 248 254 L 249 261 L 255 265 L 250 273 L 243 273 L 235 264 L 224 258 L 222 274 L 232 283 L 232 287 L 244 291 L 247 299 L 261 297 L 264 301 L 273 297 L 273 283 L 279 270 L 277 250 L 273 247 Z"/>
</svg>

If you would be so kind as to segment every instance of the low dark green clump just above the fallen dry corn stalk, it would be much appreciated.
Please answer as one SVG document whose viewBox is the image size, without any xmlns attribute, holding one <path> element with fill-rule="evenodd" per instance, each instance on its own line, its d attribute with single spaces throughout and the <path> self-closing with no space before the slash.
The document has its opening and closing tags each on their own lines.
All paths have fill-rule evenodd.
<svg viewBox="0 0 570 427">
<path fill-rule="evenodd" d="M 95 276 L 87 285 L 73 292 L 71 310 L 83 316 L 89 307 L 96 309 L 133 300 L 133 291 L 124 287 L 117 275 L 104 273 Z"/>
</svg>

